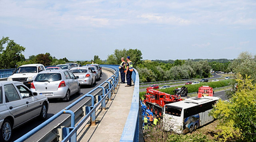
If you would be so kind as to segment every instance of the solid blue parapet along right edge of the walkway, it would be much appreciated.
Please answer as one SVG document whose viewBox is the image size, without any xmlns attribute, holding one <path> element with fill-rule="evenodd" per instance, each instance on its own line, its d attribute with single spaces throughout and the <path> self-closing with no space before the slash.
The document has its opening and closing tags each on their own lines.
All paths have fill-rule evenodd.
<svg viewBox="0 0 256 142">
<path fill-rule="evenodd" d="M 131 108 L 127 117 L 120 142 L 139 142 L 140 129 L 140 107 L 139 107 L 139 73 L 136 69 L 132 72 L 132 81 L 134 82 L 134 93 L 132 96 Z"/>
</svg>

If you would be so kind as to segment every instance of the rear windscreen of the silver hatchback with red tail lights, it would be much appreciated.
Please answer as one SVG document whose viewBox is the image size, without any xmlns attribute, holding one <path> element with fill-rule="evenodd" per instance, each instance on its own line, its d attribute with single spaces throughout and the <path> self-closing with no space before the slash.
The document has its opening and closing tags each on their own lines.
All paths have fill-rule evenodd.
<svg viewBox="0 0 256 142">
<path fill-rule="evenodd" d="M 51 82 L 51 81 L 58 81 L 61 80 L 60 73 L 41 73 L 35 77 L 36 82 Z"/>
</svg>

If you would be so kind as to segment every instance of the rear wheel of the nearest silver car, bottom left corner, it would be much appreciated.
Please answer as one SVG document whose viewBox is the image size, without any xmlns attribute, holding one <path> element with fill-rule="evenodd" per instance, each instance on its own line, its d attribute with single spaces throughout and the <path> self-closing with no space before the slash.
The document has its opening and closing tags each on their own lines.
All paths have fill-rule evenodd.
<svg viewBox="0 0 256 142">
<path fill-rule="evenodd" d="M 0 132 L 1 132 L 1 135 L 0 135 L 1 142 L 9 142 L 11 140 L 12 123 L 9 119 L 4 119 Z"/>
</svg>

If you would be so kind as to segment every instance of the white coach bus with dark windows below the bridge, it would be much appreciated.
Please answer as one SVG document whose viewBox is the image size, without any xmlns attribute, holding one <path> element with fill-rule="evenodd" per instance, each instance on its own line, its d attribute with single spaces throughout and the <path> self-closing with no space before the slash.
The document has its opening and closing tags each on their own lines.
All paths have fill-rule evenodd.
<svg viewBox="0 0 256 142">
<path fill-rule="evenodd" d="M 212 122 L 209 116 L 219 97 L 192 97 L 164 106 L 163 127 L 167 131 L 187 133 Z"/>
</svg>

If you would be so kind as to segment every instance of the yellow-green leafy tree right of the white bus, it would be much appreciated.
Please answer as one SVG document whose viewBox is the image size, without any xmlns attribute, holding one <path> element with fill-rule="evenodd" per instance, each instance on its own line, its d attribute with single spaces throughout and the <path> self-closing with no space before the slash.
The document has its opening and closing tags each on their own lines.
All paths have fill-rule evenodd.
<svg viewBox="0 0 256 142">
<path fill-rule="evenodd" d="M 250 76 L 237 74 L 238 88 L 229 102 L 219 100 L 211 115 L 220 119 L 217 126 L 221 141 L 256 141 L 256 85 Z"/>
</svg>

